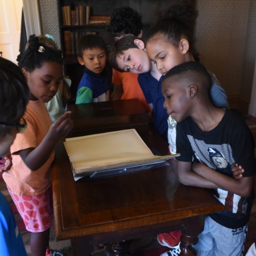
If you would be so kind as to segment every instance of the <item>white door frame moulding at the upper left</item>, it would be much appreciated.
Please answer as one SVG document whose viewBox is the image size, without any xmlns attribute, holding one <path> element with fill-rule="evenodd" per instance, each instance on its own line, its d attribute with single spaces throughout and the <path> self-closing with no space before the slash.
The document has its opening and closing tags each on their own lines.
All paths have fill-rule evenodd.
<svg viewBox="0 0 256 256">
<path fill-rule="evenodd" d="M 41 22 L 38 0 L 23 0 L 24 20 L 27 39 L 30 35 L 41 34 Z"/>
</svg>

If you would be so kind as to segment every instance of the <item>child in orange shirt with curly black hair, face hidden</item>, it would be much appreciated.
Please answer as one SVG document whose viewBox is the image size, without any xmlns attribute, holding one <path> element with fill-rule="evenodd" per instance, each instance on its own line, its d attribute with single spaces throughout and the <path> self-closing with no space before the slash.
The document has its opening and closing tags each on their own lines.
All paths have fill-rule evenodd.
<svg viewBox="0 0 256 256">
<path fill-rule="evenodd" d="M 110 19 L 109 31 L 115 40 L 129 35 L 141 37 L 141 14 L 128 6 L 114 9 Z M 112 100 L 137 99 L 148 111 L 151 111 L 139 86 L 138 74 L 122 73 L 114 68 L 112 83 L 114 84 L 114 92 L 111 95 Z"/>
</svg>

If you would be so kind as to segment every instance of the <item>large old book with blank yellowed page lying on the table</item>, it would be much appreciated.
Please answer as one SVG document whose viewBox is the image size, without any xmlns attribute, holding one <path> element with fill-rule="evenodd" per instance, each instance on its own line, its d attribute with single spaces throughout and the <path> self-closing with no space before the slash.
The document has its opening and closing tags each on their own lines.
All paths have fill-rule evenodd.
<svg viewBox="0 0 256 256">
<path fill-rule="evenodd" d="M 111 169 L 164 162 L 175 155 L 155 156 L 135 129 L 67 138 L 64 142 L 75 180 Z"/>
</svg>

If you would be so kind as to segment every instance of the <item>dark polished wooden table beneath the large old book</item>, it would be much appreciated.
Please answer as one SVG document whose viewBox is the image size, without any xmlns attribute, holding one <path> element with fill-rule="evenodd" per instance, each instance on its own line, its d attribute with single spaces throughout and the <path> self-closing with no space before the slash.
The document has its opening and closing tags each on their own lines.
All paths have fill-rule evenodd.
<svg viewBox="0 0 256 256">
<path fill-rule="evenodd" d="M 165 140 L 150 124 L 134 127 L 154 152 L 168 154 Z M 90 255 L 94 245 L 178 229 L 181 254 L 195 255 L 191 245 L 205 215 L 224 209 L 207 189 L 181 185 L 170 166 L 75 182 L 62 143 L 53 168 L 53 203 L 55 239 L 71 239 L 73 255 L 79 256 Z M 114 255 L 121 255 L 116 245 Z"/>
</svg>

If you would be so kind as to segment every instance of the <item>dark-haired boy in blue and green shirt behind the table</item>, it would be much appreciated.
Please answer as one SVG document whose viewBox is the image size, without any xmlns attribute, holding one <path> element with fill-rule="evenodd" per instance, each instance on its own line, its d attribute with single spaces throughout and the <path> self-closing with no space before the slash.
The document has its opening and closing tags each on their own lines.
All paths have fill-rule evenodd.
<svg viewBox="0 0 256 256">
<path fill-rule="evenodd" d="M 106 65 L 106 45 L 99 35 L 82 36 L 78 41 L 77 60 L 84 74 L 76 93 L 76 104 L 109 100 L 108 78 L 101 76 Z"/>
</svg>

